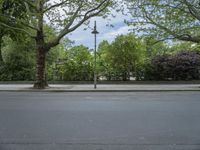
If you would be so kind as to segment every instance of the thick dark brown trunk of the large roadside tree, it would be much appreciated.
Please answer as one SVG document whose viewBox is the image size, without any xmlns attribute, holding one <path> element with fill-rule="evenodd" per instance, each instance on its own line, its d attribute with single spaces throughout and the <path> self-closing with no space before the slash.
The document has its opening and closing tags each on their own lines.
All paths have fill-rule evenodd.
<svg viewBox="0 0 200 150">
<path fill-rule="evenodd" d="M 45 79 L 45 57 L 47 48 L 44 43 L 44 38 L 42 34 L 37 34 L 36 38 L 37 45 L 37 55 L 36 55 L 36 82 L 34 88 L 44 89 L 48 86 Z"/>
</svg>

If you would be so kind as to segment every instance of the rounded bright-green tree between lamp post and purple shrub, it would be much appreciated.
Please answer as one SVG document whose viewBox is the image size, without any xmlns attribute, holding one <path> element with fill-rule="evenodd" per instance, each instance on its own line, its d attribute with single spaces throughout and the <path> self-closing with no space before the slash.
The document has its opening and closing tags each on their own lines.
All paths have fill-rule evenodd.
<svg viewBox="0 0 200 150">
<path fill-rule="evenodd" d="M 121 35 L 111 44 L 109 55 L 115 72 L 126 81 L 143 61 L 144 49 L 141 40 L 133 34 Z"/>
</svg>

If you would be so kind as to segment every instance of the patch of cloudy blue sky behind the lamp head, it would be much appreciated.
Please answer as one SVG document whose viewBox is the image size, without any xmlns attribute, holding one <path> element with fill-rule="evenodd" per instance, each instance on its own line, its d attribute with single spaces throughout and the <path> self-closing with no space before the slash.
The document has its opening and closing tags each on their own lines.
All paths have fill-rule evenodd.
<svg viewBox="0 0 200 150">
<path fill-rule="evenodd" d="M 130 19 L 130 16 L 124 16 L 121 13 L 117 13 L 115 18 L 110 18 L 109 23 L 114 27 L 108 27 L 106 24 L 108 20 L 102 19 L 100 17 L 95 17 L 90 19 L 90 26 L 93 28 L 94 21 L 97 21 L 97 30 L 99 34 L 97 36 L 97 44 L 103 40 L 108 40 L 112 42 L 117 35 L 127 34 L 130 27 L 124 23 L 124 19 Z M 75 45 L 83 44 L 89 48 L 94 47 L 94 36 L 91 34 L 92 29 L 88 28 L 84 30 L 85 26 L 82 25 L 76 31 L 72 32 L 68 38 L 75 42 Z"/>
</svg>

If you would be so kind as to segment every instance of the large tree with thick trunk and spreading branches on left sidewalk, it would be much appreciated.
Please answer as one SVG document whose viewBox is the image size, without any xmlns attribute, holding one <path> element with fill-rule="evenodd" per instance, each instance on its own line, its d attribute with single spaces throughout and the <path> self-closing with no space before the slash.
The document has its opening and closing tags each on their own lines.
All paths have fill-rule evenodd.
<svg viewBox="0 0 200 150">
<path fill-rule="evenodd" d="M 111 4 L 110 0 L 35 0 L 24 1 L 26 4 L 29 24 L 21 23 L 28 30 L 23 31 L 36 41 L 37 67 L 35 88 L 45 88 L 45 57 L 51 48 L 57 46 L 60 40 L 73 32 L 91 17 L 102 15 Z M 31 8 L 31 9 L 30 9 Z M 44 31 L 45 24 L 55 28 L 55 37 L 47 40 Z M 6 24 L 1 24 L 7 27 Z M 31 30 L 31 31 L 30 31 Z"/>
</svg>

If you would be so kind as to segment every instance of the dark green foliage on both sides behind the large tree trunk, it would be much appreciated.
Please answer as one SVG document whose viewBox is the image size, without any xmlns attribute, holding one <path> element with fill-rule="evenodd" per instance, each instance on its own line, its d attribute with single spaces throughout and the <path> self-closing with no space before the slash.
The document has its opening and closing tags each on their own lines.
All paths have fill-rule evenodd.
<svg viewBox="0 0 200 150">
<path fill-rule="evenodd" d="M 55 34 L 47 26 L 48 37 Z M 53 80 L 55 62 L 59 58 L 64 58 L 64 44 L 68 45 L 71 41 L 64 40 L 54 50 L 49 51 L 46 59 L 46 78 Z M 24 41 L 13 41 L 10 37 L 4 37 L 2 54 L 4 63 L 1 63 L 0 80 L 31 80 L 35 79 L 35 41 L 28 36 L 24 36 Z"/>
</svg>

